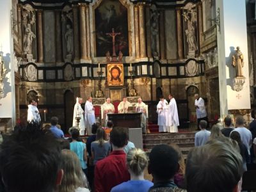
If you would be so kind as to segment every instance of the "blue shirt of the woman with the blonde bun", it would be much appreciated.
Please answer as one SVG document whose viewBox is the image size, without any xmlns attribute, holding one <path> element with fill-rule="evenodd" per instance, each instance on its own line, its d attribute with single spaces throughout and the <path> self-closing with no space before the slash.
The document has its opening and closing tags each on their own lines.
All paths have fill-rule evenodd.
<svg viewBox="0 0 256 192">
<path fill-rule="evenodd" d="M 111 189 L 111 192 L 130 192 L 130 191 L 140 191 L 148 192 L 148 189 L 153 186 L 153 183 L 149 180 L 128 180 L 127 182 L 122 182 L 115 188 Z"/>
</svg>

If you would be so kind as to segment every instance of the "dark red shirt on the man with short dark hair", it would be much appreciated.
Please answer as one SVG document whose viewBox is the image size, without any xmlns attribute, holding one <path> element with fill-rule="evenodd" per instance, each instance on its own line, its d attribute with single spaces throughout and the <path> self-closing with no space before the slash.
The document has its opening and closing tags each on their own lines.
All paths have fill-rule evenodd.
<svg viewBox="0 0 256 192">
<path fill-rule="evenodd" d="M 118 184 L 130 180 L 125 159 L 123 150 L 114 150 L 108 157 L 97 162 L 94 172 L 95 192 L 109 192 Z"/>
</svg>

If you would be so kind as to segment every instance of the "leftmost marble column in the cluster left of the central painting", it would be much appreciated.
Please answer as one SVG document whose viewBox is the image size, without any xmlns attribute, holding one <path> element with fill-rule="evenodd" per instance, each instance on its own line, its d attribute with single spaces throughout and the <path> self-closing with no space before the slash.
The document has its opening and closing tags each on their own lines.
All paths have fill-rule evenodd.
<svg viewBox="0 0 256 192">
<path fill-rule="evenodd" d="M 73 29 L 74 29 L 74 60 L 80 59 L 79 49 L 79 23 L 78 23 L 78 8 L 74 5 L 73 8 Z"/>
</svg>

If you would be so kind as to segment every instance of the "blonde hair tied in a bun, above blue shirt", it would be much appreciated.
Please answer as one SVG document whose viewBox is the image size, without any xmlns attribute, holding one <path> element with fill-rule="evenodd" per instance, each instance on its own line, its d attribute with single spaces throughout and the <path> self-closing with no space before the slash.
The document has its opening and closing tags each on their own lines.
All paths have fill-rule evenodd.
<svg viewBox="0 0 256 192">
<path fill-rule="evenodd" d="M 126 155 L 128 169 L 134 175 L 140 175 L 148 166 L 148 158 L 140 148 L 132 148 Z"/>
</svg>

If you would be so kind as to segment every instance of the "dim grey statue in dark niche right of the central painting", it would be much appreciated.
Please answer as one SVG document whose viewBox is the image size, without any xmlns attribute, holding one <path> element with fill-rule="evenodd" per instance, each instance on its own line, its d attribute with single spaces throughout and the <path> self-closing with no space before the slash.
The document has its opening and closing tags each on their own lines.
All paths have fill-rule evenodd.
<svg viewBox="0 0 256 192">
<path fill-rule="evenodd" d="M 158 36 L 158 18 L 159 13 L 157 12 L 156 6 L 150 8 L 150 28 L 151 28 L 151 49 L 154 57 L 158 56 L 157 52 L 157 36 Z"/>
</svg>

